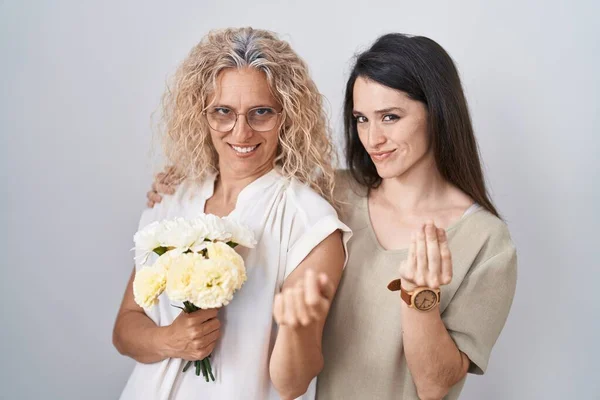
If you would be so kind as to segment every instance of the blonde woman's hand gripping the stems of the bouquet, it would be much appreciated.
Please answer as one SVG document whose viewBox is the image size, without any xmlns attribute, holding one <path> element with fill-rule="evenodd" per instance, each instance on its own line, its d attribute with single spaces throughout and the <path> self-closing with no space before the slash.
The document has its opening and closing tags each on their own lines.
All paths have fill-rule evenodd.
<svg viewBox="0 0 600 400">
<path fill-rule="evenodd" d="M 217 309 L 181 312 L 171 325 L 165 328 L 162 337 L 171 358 L 188 361 L 202 360 L 215 348 L 221 336 L 221 322 Z"/>
</svg>

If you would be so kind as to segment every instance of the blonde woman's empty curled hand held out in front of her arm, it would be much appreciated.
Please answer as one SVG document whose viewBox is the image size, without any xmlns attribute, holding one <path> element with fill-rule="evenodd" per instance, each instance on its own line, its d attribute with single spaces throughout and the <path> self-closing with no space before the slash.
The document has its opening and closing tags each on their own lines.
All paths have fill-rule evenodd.
<svg viewBox="0 0 600 400">
<path fill-rule="evenodd" d="M 335 288 L 327 275 L 309 269 L 294 286 L 275 296 L 273 316 L 280 326 L 307 327 L 327 317 Z"/>
</svg>

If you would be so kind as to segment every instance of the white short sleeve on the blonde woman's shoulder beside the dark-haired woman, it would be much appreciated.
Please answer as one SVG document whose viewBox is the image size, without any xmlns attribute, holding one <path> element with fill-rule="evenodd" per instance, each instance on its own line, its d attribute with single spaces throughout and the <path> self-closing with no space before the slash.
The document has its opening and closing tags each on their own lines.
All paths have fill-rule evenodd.
<svg viewBox="0 0 600 400">
<path fill-rule="evenodd" d="M 291 220 L 285 275 L 287 278 L 310 252 L 336 230 L 342 232 L 344 252 L 348 261 L 347 244 L 352 231 L 340 219 L 335 209 L 325 199 L 307 186 L 292 187 L 290 200 L 294 205 Z"/>
</svg>

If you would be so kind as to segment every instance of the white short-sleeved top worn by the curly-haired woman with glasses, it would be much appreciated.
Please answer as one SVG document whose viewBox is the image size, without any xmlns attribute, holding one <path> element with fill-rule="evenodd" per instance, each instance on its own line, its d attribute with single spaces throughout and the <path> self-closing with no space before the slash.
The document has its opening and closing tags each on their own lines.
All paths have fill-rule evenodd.
<svg viewBox="0 0 600 400">
<path fill-rule="evenodd" d="M 172 196 L 143 212 L 140 228 L 165 218 L 192 218 L 204 211 L 213 195 L 216 175 L 201 183 L 184 182 Z M 238 247 L 246 263 L 248 280 L 233 301 L 219 310 L 221 337 L 211 356 L 216 382 L 185 373 L 184 361 L 166 359 L 154 364 L 136 363 L 121 400 L 227 400 L 278 399 L 269 376 L 269 359 L 277 325 L 273 297 L 284 279 L 323 239 L 343 231 L 344 247 L 350 229 L 334 208 L 308 186 L 281 176 L 275 169 L 246 186 L 230 214 L 248 225 L 258 241 L 254 249 Z M 139 265 L 136 265 L 136 269 Z M 163 294 L 146 314 L 159 326 L 170 325 L 181 312 Z M 315 397 L 316 379 L 302 400 Z"/>
</svg>

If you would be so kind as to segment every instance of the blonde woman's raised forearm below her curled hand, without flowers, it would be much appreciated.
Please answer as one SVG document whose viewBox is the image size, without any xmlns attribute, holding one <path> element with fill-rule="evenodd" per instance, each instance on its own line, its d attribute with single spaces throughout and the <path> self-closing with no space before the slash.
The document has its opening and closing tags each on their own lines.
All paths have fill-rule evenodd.
<svg viewBox="0 0 600 400">
<path fill-rule="evenodd" d="M 282 399 L 295 399 L 323 369 L 321 335 L 313 325 L 280 326 L 271 354 L 270 374 Z"/>
</svg>

